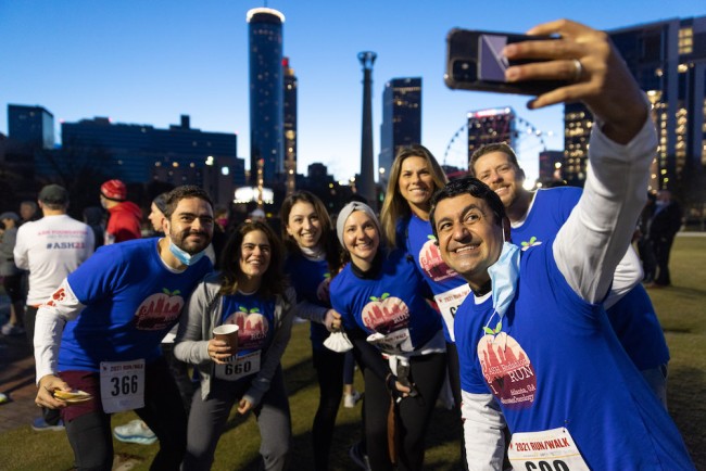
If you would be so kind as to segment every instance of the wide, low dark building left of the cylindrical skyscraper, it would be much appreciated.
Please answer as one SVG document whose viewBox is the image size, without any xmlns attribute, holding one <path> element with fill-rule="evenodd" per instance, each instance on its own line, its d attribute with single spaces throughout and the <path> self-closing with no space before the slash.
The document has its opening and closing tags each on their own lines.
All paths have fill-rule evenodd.
<svg viewBox="0 0 706 471">
<path fill-rule="evenodd" d="M 204 132 L 181 115 L 168 129 L 149 125 L 114 124 L 96 117 L 63 123 L 62 149 L 42 154 L 36 165 L 40 176 L 61 171 L 93 171 L 126 183 L 159 180 L 173 184 L 203 184 L 203 169 L 214 162 L 237 160 L 236 133 Z M 229 165 L 230 166 L 230 165 Z M 234 181 L 242 176 L 228 170 Z"/>
</svg>

